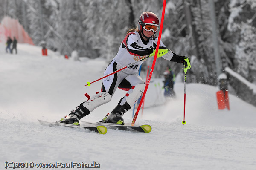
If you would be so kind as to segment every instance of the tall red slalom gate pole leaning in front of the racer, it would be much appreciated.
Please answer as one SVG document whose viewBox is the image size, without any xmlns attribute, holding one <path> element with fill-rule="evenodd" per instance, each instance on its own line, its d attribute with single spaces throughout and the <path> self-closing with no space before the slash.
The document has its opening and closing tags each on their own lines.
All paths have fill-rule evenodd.
<svg viewBox="0 0 256 170">
<path fill-rule="evenodd" d="M 164 13 L 165 13 L 165 6 L 166 6 L 166 0 L 163 0 L 163 10 L 162 10 L 162 17 L 161 17 L 161 25 L 160 25 L 160 30 L 159 30 L 159 36 L 158 36 L 158 40 L 157 40 L 157 49 L 156 49 L 156 53 L 154 55 L 154 61 L 152 63 L 152 66 L 151 66 L 151 70 L 150 70 L 150 73 L 149 73 L 149 76 L 148 76 L 148 81 L 146 83 L 146 86 L 145 86 L 145 90 L 143 92 L 143 95 L 142 95 L 142 98 L 140 100 L 140 104 L 137 108 L 137 111 L 134 115 L 134 118 L 131 122 L 131 126 L 134 126 L 135 124 L 135 121 L 137 119 L 137 116 L 139 114 L 139 111 L 140 111 L 140 107 L 144 101 L 144 98 L 145 98 L 145 95 L 146 95 L 146 92 L 148 90 L 148 86 L 149 86 L 149 83 L 150 83 L 150 80 L 151 80 L 151 77 L 152 77 L 152 74 L 153 74 L 153 71 L 154 71 L 154 66 L 155 66 L 155 63 L 156 63 L 156 60 L 157 60 L 157 53 L 158 53 L 158 49 L 159 49 L 159 45 L 160 45 L 160 40 L 161 40 L 161 35 L 162 35 L 162 30 L 163 30 L 163 20 L 164 20 Z"/>
</svg>

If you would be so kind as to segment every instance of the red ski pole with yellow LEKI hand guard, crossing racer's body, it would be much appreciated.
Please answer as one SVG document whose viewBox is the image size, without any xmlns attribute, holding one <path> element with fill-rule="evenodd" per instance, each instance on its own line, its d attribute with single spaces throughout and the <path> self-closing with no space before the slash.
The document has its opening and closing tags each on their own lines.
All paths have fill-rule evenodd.
<svg viewBox="0 0 256 170">
<path fill-rule="evenodd" d="M 150 54 L 150 55 L 148 55 L 148 56 L 146 56 L 146 57 L 140 59 L 139 61 L 143 61 L 143 60 L 145 60 L 145 59 L 147 59 L 147 58 L 150 58 L 151 56 L 153 56 L 153 55 L 155 54 L 155 52 L 156 52 L 156 50 L 154 50 L 154 52 L 153 52 L 152 54 Z M 163 55 L 165 55 L 167 52 L 168 52 L 168 49 L 159 49 L 159 52 L 158 52 L 158 54 L 157 54 L 157 58 L 158 58 L 158 57 L 161 57 L 161 56 L 163 56 Z M 127 67 L 132 66 L 132 65 L 138 63 L 139 61 L 135 61 L 134 63 L 131 63 L 131 64 L 129 64 L 128 66 L 123 67 L 122 69 L 116 70 L 116 71 L 112 72 L 111 74 L 105 75 L 105 76 L 103 76 L 102 78 L 99 78 L 98 80 L 95 80 L 95 81 L 93 81 L 93 82 L 87 81 L 87 84 L 85 84 L 84 86 L 90 86 L 91 84 L 95 83 L 96 81 L 99 81 L 99 80 L 101 80 L 101 79 L 103 79 L 103 78 L 106 78 L 106 77 L 108 77 L 108 76 L 110 76 L 110 75 L 113 75 L 113 74 L 115 74 L 115 73 L 117 73 L 117 72 L 119 72 L 119 71 L 121 71 L 121 70 L 123 70 L 123 69 L 126 69 Z"/>
</svg>

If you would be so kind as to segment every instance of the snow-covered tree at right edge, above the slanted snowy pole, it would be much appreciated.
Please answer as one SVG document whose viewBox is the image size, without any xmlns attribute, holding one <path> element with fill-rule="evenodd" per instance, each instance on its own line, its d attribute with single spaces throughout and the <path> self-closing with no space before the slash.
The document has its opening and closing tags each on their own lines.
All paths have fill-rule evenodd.
<svg viewBox="0 0 256 170">
<path fill-rule="evenodd" d="M 234 46 L 237 72 L 256 83 L 256 3 L 255 1 L 231 1 L 229 30 L 236 33 Z"/>
</svg>

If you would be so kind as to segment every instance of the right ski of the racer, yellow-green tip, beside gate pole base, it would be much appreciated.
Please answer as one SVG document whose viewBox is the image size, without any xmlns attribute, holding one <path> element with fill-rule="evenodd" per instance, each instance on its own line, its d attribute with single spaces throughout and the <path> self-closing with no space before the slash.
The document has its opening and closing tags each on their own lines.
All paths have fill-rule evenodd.
<svg viewBox="0 0 256 170">
<path fill-rule="evenodd" d="M 103 125 L 105 127 L 108 127 L 109 129 L 118 129 L 118 130 L 124 130 L 124 131 L 133 131 L 133 132 L 144 132 L 144 133 L 150 133 L 152 130 L 152 127 L 148 124 L 140 125 L 140 126 L 126 126 L 126 125 L 118 125 L 118 124 L 111 124 L 111 123 L 91 123 L 87 121 L 82 121 L 85 124 L 93 124 L 93 125 Z"/>
</svg>

